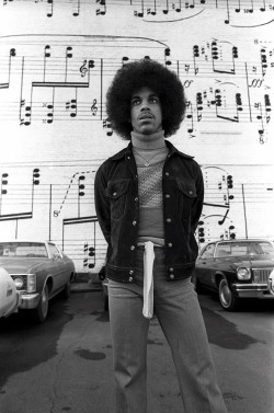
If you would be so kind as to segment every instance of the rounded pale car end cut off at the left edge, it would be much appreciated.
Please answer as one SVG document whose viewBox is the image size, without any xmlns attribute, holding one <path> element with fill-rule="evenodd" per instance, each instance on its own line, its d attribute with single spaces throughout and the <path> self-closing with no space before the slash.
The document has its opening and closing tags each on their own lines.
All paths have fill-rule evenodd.
<svg viewBox="0 0 274 413">
<path fill-rule="evenodd" d="M 21 303 L 20 292 L 8 271 L 0 268 L 0 318 L 18 310 Z"/>
</svg>

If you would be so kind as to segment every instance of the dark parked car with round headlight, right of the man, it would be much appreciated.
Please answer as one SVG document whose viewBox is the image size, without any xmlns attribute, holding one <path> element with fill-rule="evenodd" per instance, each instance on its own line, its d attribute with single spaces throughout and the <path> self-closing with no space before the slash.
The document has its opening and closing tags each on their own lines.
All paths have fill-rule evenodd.
<svg viewBox="0 0 274 413">
<path fill-rule="evenodd" d="M 274 246 L 260 239 L 210 242 L 197 257 L 192 282 L 197 291 L 218 291 L 228 311 L 242 298 L 274 299 Z"/>
</svg>

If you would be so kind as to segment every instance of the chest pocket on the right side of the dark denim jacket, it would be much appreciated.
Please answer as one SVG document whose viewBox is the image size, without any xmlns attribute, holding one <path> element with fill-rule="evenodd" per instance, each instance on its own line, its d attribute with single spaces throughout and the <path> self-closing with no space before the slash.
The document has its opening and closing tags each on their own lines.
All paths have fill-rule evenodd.
<svg viewBox="0 0 274 413">
<path fill-rule="evenodd" d="M 192 206 L 197 197 L 196 185 L 194 180 L 176 179 L 180 197 L 180 210 L 183 218 L 190 218 Z"/>
</svg>

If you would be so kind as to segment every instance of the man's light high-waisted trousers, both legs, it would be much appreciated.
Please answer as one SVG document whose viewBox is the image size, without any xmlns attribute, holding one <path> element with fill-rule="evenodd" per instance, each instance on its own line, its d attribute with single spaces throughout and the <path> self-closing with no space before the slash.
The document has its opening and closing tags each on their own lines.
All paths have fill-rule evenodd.
<svg viewBox="0 0 274 413">
<path fill-rule="evenodd" d="M 184 413 L 227 413 L 191 279 L 168 282 L 163 249 L 156 248 L 155 255 L 155 313 L 172 352 Z M 109 280 L 116 413 L 147 413 L 150 321 L 142 316 L 142 257 L 138 248 L 136 283 Z"/>
</svg>

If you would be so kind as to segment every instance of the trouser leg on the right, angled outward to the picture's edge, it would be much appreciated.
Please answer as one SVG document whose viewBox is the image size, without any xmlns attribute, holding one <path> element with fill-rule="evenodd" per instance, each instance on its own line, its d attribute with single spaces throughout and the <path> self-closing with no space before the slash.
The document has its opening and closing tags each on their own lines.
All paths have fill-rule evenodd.
<svg viewBox="0 0 274 413">
<path fill-rule="evenodd" d="M 156 314 L 171 347 L 185 413 L 227 413 L 196 292 L 190 279 L 155 297 Z"/>
</svg>

